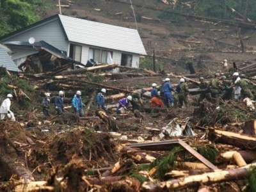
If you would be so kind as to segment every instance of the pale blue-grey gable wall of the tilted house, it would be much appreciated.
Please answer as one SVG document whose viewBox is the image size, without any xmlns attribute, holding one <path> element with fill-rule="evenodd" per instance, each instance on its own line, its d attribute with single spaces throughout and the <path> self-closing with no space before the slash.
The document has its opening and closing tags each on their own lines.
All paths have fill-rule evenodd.
<svg viewBox="0 0 256 192">
<path fill-rule="evenodd" d="M 44 40 L 61 51 L 68 52 L 68 41 L 65 39 L 62 27 L 57 19 L 22 31 L 22 33 L 5 38 L 1 42 L 28 42 L 30 37 L 35 38 L 36 42 Z"/>
</svg>

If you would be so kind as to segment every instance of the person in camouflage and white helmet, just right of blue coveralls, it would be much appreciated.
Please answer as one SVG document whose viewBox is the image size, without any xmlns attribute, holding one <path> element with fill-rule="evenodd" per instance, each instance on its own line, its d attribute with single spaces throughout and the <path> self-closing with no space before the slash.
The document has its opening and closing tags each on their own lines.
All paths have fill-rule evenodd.
<svg viewBox="0 0 256 192">
<path fill-rule="evenodd" d="M 188 93 L 189 93 L 188 84 L 186 83 L 184 78 L 180 78 L 179 84 L 176 88 L 176 92 L 178 93 L 178 97 L 179 97 L 178 107 L 182 108 L 183 102 L 186 107 L 189 107 L 190 103 L 188 100 Z"/>
</svg>

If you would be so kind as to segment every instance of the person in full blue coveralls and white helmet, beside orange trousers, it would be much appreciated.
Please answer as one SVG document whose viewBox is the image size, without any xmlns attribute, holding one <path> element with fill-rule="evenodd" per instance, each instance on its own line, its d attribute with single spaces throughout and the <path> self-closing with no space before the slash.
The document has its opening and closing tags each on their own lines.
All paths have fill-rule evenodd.
<svg viewBox="0 0 256 192">
<path fill-rule="evenodd" d="M 170 79 L 166 78 L 164 80 L 164 84 L 162 86 L 162 93 L 163 93 L 163 97 L 164 97 L 164 106 L 166 106 L 166 108 L 170 108 L 170 103 L 169 100 L 172 102 L 172 107 L 174 106 L 174 98 L 172 95 L 172 92 L 176 91 L 173 89 L 172 84 L 170 83 Z"/>
</svg>

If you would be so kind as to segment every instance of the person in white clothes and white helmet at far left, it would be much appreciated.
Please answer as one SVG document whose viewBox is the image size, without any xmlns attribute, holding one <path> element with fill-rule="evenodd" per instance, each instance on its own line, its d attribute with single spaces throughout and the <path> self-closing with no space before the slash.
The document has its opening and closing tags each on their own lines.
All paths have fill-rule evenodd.
<svg viewBox="0 0 256 192">
<path fill-rule="evenodd" d="M 7 98 L 4 99 L 1 107 L 0 107 L 0 119 L 4 120 L 5 116 L 7 115 L 7 117 L 12 120 L 13 122 L 15 122 L 15 116 L 13 114 L 12 111 L 10 111 L 10 107 L 11 107 L 11 100 L 13 99 L 12 94 L 8 94 Z"/>
</svg>

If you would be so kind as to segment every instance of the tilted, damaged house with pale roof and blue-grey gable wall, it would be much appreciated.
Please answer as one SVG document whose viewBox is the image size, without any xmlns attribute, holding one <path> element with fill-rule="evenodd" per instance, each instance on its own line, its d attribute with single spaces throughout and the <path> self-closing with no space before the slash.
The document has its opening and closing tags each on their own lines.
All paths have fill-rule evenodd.
<svg viewBox="0 0 256 192">
<path fill-rule="evenodd" d="M 0 38 L 0 42 L 12 47 L 29 45 L 29 38 L 44 42 L 61 51 L 67 57 L 86 64 L 116 63 L 126 67 L 139 67 L 140 55 L 147 54 L 136 29 L 123 28 L 65 15 L 54 15 L 26 28 Z M 8 43 L 7 43 L 8 42 Z M 37 47 L 36 43 L 33 45 Z M 32 50 L 30 50 L 31 52 Z M 17 65 L 28 54 L 20 51 L 13 60 Z M 13 55 L 14 56 L 14 55 Z M 20 61 L 18 61 L 20 60 Z"/>
</svg>

